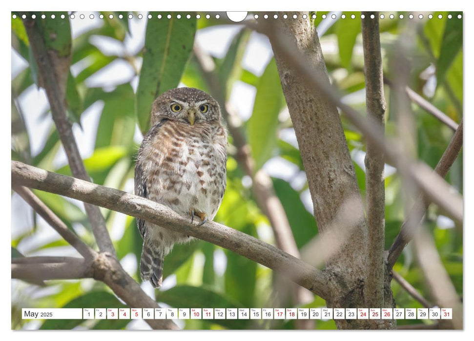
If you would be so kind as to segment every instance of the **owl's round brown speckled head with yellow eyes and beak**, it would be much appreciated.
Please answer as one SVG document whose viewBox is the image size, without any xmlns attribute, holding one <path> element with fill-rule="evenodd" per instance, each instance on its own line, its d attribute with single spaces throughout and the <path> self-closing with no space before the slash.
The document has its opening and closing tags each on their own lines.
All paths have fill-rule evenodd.
<svg viewBox="0 0 474 341">
<path fill-rule="evenodd" d="M 163 118 L 194 125 L 221 121 L 217 101 L 206 92 L 195 88 L 171 89 L 153 102 L 151 125 Z"/>
</svg>

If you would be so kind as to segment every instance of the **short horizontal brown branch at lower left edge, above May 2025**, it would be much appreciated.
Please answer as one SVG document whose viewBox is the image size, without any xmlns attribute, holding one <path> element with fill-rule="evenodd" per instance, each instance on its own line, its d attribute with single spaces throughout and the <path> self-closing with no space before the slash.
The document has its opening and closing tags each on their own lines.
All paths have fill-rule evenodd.
<svg viewBox="0 0 474 341">
<path fill-rule="evenodd" d="M 91 278 L 93 275 L 90 263 L 82 258 L 67 257 L 67 261 L 61 263 L 38 263 L 35 259 L 30 260 L 29 258 L 17 258 L 17 262 L 12 263 L 12 278 L 31 282 Z M 19 260 L 21 262 L 18 262 Z M 54 260 L 51 259 L 51 261 Z"/>
</svg>

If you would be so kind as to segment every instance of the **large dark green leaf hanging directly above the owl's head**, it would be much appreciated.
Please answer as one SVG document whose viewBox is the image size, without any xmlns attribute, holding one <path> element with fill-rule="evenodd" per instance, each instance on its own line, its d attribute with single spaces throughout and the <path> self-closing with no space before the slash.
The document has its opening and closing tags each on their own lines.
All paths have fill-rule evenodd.
<svg viewBox="0 0 474 341">
<path fill-rule="evenodd" d="M 149 128 L 150 112 L 155 98 L 179 84 L 185 65 L 191 55 L 195 19 L 171 19 L 168 13 L 155 19 L 157 12 L 150 12 L 153 19 L 146 24 L 143 65 L 137 89 L 136 114 L 142 133 Z M 182 14 L 185 16 L 185 14 Z"/>
</svg>

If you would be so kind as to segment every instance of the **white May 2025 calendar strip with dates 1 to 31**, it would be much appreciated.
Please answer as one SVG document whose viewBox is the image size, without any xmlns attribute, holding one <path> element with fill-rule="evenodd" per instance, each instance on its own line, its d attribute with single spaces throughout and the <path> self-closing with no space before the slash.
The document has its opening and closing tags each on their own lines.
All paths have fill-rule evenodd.
<svg viewBox="0 0 474 341">
<path fill-rule="evenodd" d="M 27 320 L 451 320 L 452 308 L 23 308 Z"/>
</svg>

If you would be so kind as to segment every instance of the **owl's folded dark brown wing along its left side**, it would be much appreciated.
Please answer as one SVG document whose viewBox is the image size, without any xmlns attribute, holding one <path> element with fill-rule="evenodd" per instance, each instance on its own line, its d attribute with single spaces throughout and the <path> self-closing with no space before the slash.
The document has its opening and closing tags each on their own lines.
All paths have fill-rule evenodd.
<svg viewBox="0 0 474 341">
<path fill-rule="evenodd" d="M 142 157 L 142 152 L 145 146 L 150 142 L 150 140 L 156 136 L 160 132 L 161 126 L 167 121 L 168 119 L 165 118 L 155 124 L 151 129 L 146 133 L 143 137 L 142 144 L 140 145 L 140 149 L 138 150 L 138 158 L 137 163 L 135 165 L 135 195 L 141 196 L 143 198 L 148 198 L 148 191 L 146 189 L 146 175 L 144 173 L 144 165 L 143 163 L 146 160 Z M 137 218 L 137 226 L 142 238 L 144 238 L 146 228 L 145 228 L 145 221 L 142 219 Z"/>
</svg>

